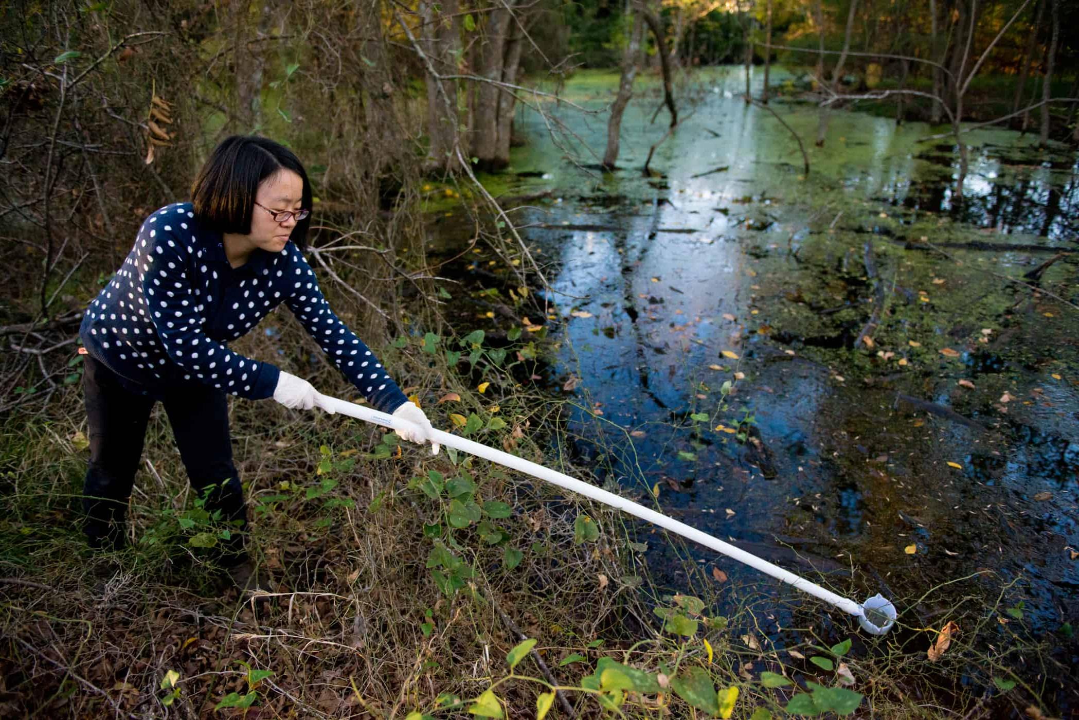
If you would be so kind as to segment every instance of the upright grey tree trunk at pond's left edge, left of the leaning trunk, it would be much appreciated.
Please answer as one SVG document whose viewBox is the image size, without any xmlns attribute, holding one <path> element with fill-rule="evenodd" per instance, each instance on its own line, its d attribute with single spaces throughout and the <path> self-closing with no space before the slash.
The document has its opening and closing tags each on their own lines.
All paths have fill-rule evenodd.
<svg viewBox="0 0 1079 720">
<path fill-rule="evenodd" d="M 421 46 L 439 76 L 456 74 L 461 33 L 456 17 L 457 0 L 422 0 Z M 457 83 L 439 80 L 427 72 L 427 160 L 426 169 L 440 171 L 455 164 L 451 154 L 457 140 Z"/>
</svg>

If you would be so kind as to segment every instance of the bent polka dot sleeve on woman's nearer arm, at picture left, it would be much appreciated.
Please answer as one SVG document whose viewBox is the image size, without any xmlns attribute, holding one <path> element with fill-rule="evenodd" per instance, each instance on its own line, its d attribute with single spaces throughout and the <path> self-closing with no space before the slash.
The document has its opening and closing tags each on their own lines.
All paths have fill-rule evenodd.
<svg viewBox="0 0 1079 720">
<path fill-rule="evenodd" d="M 189 274 L 189 250 L 165 233 L 146 255 L 142 293 L 162 347 L 186 377 L 232 395 L 262 399 L 273 395 L 281 370 L 229 350 L 203 330 L 203 299 Z"/>
</svg>

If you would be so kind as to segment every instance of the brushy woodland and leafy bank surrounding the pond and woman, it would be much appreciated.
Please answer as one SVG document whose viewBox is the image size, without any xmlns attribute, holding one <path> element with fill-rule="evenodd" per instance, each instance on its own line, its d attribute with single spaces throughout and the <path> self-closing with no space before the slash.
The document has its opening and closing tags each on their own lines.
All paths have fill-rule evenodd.
<svg viewBox="0 0 1079 720">
<path fill-rule="evenodd" d="M 277 592 L 221 595 L 204 553 L 222 530 L 188 497 L 163 415 L 133 498 L 133 549 L 93 555 L 78 527 L 76 351 L 82 309 L 142 219 L 187 198 L 220 139 L 258 133 L 311 174 L 312 264 L 334 308 L 436 424 L 602 483 L 559 450 L 573 383 L 532 382 L 554 363 L 558 314 L 549 260 L 515 213 L 550 193 L 506 192 L 500 176 L 527 139 L 523 118 L 542 119 L 552 163 L 640 173 L 619 163 L 619 126 L 644 103 L 659 118 L 643 169 L 656 177 L 653 151 L 685 132 L 697 73 L 745 68 L 740 101 L 794 134 L 802 178 L 814 148 L 836 141 L 839 112 L 926 122 L 961 208 L 978 126 L 1029 134 L 1044 162 L 1074 165 L 1077 22 L 1064 0 L 4 2 L 0 714 L 1074 710 L 1070 624 L 1024 633 L 1023 604 L 1006 613 L 1003 590 L 852 644 L 846 621 L 775 588 L 654 580 L 634 531 L 601 507 L 265 403 L 232 412 L 250 544 Z M 602 111 L 563 97 L 604 73 Z M 801 106 L 819 114 L 812 133 L 783 120 Z M 556 108 L 605 124 L 605 145 L 582 152 Z M 354 397 L 313 348 L 283 315 L 237 344 Z M 828 582 L 857 592 L 855 575 Z M 712 616 L 724 594 L 730 611 Z M 777 607 L 793 625 L 762 630 Z"/>
</svg>

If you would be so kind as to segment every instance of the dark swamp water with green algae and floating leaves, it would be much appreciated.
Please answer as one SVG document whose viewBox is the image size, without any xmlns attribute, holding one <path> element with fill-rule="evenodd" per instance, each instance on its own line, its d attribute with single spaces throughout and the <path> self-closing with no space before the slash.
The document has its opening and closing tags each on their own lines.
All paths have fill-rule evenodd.
<svg viewBox="0 0 1079 720">
<path fill-rule="evenodd" d="M 1000 614 L 1000 642 L 1022 623 L 1076 662 L 1079 314 L 1001 277 L 1061 253 L 1025 282 L 1079 302 L 1074 152 L 970 133 L 960 203 L 950 140 L 918 141 L 945 128 L 839 110 L 815 148 L 817 108 L 774 100 L 807 144 L 807 178 L 794 138 L 743 87 L 740 68 L 692 74 L 646 177 L 669 123 L 666 110 L 650 123 L 655 79 L 638 80 L 626 112 L 623 169 L 602 173 L 589 166 L 617 77 L 578 74 L 562 97 L 597 113 L 536 100 L 546 117 L 519 113 L 527 144 L 486 178 L 505 195 L 550 191 L 508 206 L 527 205 L 513 217 L 552 288 L 552 317 L 532 320 L 556 348 L 536 385 L 569 400 L 558 451 L 856 600 L 883 593 L 909 627 L 966 603 Z M 552 138 L 559 124 L 571 133 Z M 872 344 L 856 347 L 863 334 Z M 716 586 L 718 614 L 738 587 L 793 595 L 631 532 L 656 586 L 687 592 L 694 573 Z M 790 615 L 766 616 L 781 643 Z"/>
</svg>

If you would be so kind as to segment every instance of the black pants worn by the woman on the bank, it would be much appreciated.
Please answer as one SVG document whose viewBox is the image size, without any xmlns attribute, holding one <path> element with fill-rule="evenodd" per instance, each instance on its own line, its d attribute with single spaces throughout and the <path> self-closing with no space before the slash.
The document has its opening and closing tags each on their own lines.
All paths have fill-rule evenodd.
<svg viewBox="0 0 1079 720">
<path fill-rule="evenodd" d="M 83 489 L 85 532 L 92 546 L 123 547 L 127 500 L 142 456 L 142 441 L 152 397 L 132 393 L 103 363 L 84 356 L 83 389 L 90 425 L 90 467 Z M 224 393 L 209 386 L 187 385 L 164 395 L 180 459 L 191 487 L 205 497 L 205 510 L 220 511 L 220 521 L 232 538 L 219 541 L 221 559 L 243 559 L 243 530 L 247 522 L 240 475 L 232 463 L 229 407 Z M 230 520 L 241 520 L 232 524 Z"/>
</svg>

